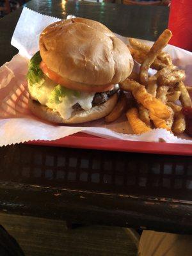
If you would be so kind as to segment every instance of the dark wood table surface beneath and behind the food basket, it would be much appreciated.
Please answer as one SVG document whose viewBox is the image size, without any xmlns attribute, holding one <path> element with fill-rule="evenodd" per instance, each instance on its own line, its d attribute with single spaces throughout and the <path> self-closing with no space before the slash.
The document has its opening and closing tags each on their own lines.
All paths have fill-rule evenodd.
<svg viewBox="0 0 192 256">
<path fill-rule="evenodd" d="M 98 20 L 124 36 L 155 40 L 168 8 L 110 3 L 38 1 L 31 10 Z M 0 20 L 0 64 L 22 8 Z M 17 131 L 15 131 L 17 132 Z M 11 145 L 0 148 L 0 210 L 86 224 L 192 233 L 192 161 L 163 156 L 73 148 Z"/>
</svg>

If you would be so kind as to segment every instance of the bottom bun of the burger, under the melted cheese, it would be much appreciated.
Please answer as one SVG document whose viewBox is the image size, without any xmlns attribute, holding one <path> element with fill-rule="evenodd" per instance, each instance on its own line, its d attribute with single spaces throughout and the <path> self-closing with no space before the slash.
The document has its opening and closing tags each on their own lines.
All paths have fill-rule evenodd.
<svg viewBox="0 0 192 256">
<path fill-rule="evenodd" d="M 68 119 L 63 119 L 58 112 L 54 112 L 52 109 L 42 106 L 35 100 L 29 99 L 29 109 L 31 112 L 46 121 L 56 123 L 56 124 L 81 124 L 85 122 L 90 122 L 93 120 L 100 119 L 108 115 L 116 105 L 118 100 L 118 94 L 115 93 L 111 96 L 108 101 L 98 106 L 94 106 L 88 111 L 79 110 L 74 111 L 72 116 Z"/>
</svg>

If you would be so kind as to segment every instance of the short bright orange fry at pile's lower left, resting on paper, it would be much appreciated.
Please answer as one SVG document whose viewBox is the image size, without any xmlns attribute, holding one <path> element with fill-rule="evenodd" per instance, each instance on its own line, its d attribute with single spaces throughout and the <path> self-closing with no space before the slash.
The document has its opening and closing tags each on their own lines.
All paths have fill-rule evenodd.
<svg viewBox="0 0 192 256">
<path fill-rule="evenodd" d="M 141 121 L 138 114 L 138 109 L 131 108 L 126 113 L 127 119 L 129 121 L 129 124 L 131 125 L 132 131 L 135 134 L 141 134 L 144 132 L 148 132 L 151 129 L 147 127 L 147 125 Z"/>
</svg>

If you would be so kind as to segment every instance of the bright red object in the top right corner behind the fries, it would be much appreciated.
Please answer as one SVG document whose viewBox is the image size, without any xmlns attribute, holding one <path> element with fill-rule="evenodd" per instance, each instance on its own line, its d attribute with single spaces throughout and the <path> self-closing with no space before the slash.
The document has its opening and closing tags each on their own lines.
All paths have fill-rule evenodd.
<svg viewBox="0 0 192 256">
<path fill-rule="evenodd" d="M 192 0 L 172 0 L 168 28 L 173 36 L 169 44 L 192 51 Z"/>
</svg>

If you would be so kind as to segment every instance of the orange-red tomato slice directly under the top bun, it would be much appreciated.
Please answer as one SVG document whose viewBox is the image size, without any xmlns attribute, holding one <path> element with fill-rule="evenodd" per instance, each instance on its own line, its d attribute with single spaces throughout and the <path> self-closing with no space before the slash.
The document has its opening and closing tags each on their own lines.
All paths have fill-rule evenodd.
<svg viewBox="0 0 192 256">
<path fill-rule="evenodd" d="M 61 77 L 56 74 L 56 72 L 52 71 L 47 67 L 47 65 L 42 61 L 40 63 L 40 68 L 44 72 L 46 76 L 48 76 L 52 81 L 57 84 L 61 84 L 68 89 L 76 90 L 80 92 L 106 92 L 113 88 L 113 84 L 104 84 L 104 85 L 88 85 L 83 83 L 77 83 L 74 81 L 70 81 L 65 77 Z"/>
</svg>

